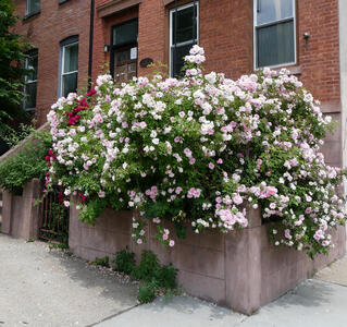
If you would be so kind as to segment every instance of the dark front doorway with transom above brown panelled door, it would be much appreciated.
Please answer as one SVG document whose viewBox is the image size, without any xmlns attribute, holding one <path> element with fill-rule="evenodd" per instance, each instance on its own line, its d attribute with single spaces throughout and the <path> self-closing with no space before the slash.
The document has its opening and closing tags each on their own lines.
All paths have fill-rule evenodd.
<svg viewBox="0 0 347 327">
<path fill-rule="evenodd" d="M 112 27 L 110 68 L 115 83 L 128 82 L 137 74 L 137 19 Z"/>
</svg>

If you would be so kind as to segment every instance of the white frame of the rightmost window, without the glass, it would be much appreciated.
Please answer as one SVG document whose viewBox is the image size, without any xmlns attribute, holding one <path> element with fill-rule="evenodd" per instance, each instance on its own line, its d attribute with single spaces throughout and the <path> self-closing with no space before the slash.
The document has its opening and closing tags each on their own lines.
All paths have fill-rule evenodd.
<svg viewBox="0 0 347 327">
<path fill-rule="evenodd" d="M 296 0 L 292 0 L 292 1 L 293 1 L 293 24 L 294 24 L 294 26 L 293 26 L 294 27 L 294 61 L 293 62 L 268 65 L 269 68 L 276 69 L 276 68 L 284 68 L 284 66 L 297 64 Z M 286 19 L 283 19 L 283 20 L 273 21 L 271 23 L 261 24 L 261 25 L 258 26 L 257 25 L 257 19 L 258 19 L 257 2 L 258 2 L 258 0 L 253 0 L 253 68 L 255 68 L 255 71 L 263 69 L 263 66 L 257 66 L 257 53 L 258 53 L 258 49 L 257 49 L 257 28 L 263 27 L 263 26 L 276 25 L 276 24 L 280 24 L 282 22 L 292 20 L 292 17 L 286 17 Z"/>
</svg>

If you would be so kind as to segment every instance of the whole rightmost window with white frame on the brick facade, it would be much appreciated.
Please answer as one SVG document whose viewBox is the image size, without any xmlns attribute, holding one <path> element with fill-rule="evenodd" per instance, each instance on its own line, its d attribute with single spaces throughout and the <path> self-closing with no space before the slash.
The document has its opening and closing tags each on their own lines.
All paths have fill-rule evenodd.
<svg viewBox="0 0 347 327">
<path fill-rule="evenodd" d="M 295 0 L 253 0 L 255 65 L 296 63 Z"/>
</svg>

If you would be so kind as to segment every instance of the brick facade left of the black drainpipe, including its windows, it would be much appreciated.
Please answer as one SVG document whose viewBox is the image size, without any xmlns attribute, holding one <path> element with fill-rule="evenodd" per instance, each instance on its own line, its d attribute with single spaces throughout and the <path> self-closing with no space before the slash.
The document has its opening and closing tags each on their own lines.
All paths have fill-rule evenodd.
<svg viewBox="0 0 347 327">
<path fill-rule="evenodd" d="M 16 33 L 33 45 L 24 63 L 32 73 L 25 77 L 23 109 L 41 125 L 58 97 L 87 86 L 90 1 L 13 2 L 22 17 Z"/>
</svg>

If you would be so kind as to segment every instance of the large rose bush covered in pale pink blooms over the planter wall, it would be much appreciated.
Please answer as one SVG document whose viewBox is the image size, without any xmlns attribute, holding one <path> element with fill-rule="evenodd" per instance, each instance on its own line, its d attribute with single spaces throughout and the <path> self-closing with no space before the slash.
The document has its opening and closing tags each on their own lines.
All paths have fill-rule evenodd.
<svg viewBox="0 0 347 327">
<path fill-rule="evenodd" d="M 345 172 L 319 152 L 331 118 L 285 70 L 233 81 L 203 74 L 198 46 L 185 60 L 181 80 L 158 73 L 115 85 L 101 75 L 86 96 L 60 98 L 48 114 L 47 186 L 64 187 L 65 206 L 74 194 L 86 222 L 109 206 L 137 209 L 139 244 L 146 219 L 173 246 L 187 222 L 196 233 L 228 232 L 259 206 L 274 221 L 275 245 L 327 253 L 332 228 L 346 219 L 337 192 Z"/>
</svg>

